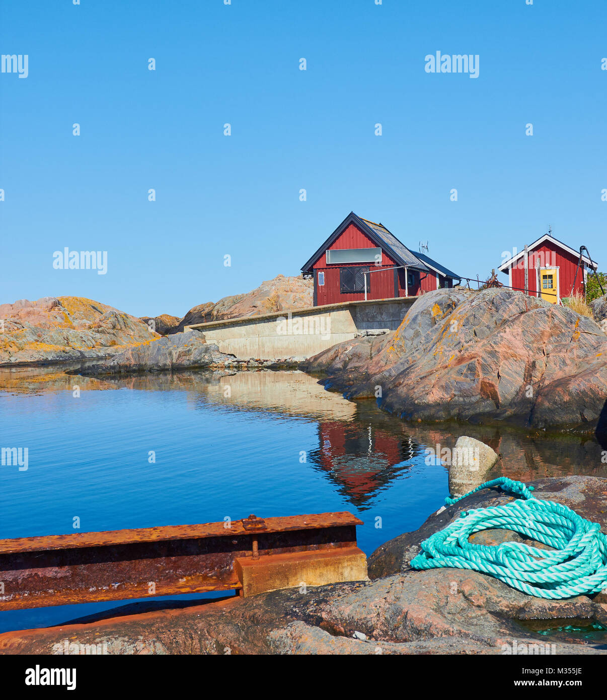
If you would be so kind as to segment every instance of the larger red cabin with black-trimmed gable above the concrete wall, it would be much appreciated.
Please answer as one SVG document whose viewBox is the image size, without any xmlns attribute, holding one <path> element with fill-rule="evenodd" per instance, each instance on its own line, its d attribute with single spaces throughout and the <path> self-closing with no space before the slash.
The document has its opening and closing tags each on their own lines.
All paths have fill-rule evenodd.
<svg viewBox="0 0 607 700">
<path fill-rule="evenodd" d="M 301 268 L 314 279 L 314 305 L 412 297 L 460 278 L 422 253 L 412 253 L 385 226 L 353 211 Z"/>
</svg>

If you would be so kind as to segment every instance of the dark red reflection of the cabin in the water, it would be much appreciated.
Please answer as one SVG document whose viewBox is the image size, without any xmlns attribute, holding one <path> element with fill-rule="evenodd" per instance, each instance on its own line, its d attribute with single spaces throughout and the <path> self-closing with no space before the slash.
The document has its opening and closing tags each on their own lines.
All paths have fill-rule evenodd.
<svg viewBox="0 0 607 700">
<path fill-rule="evenodd" d="M 393 435 L 357 421 L 323 421 L 320 447 L 308 459 L 338 486 L 358 510 L 366 510 L 379 491 L 406 473 L 421 447 L 403 435 Z"/>
</svg>

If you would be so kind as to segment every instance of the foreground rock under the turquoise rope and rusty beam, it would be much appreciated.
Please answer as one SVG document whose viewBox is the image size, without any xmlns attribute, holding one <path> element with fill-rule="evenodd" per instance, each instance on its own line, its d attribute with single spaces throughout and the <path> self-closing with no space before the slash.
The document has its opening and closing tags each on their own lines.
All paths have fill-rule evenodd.
<svg viewBox="0 0 607 700">
<path fill-rule="evenodd" d="M 607 527 L 607 479 L 560 477 L 532 484 Z M 64 640 L 105 644 L 108 654 L 605 654 L 564 619 L 607 629 L 607 595 L 548 601 L 460 569 L 412 570 L 420 542 L 471 507 L 512 500 L 486 490 L 431 514 L 369 557 L 369 581 L 286 589 L 250 598 L 127 605 L 110 619 L 0 634 L 2 654 L 62 653 Z M 479 544 L 517 540 L 510 531 L 473 535 Z M 550 635 L 534 629 L 553 629 Z M 607 632 L 606 632 L 607 634 Z M 550 647 L 545 652 L 546 645 Z"/>
</svg>

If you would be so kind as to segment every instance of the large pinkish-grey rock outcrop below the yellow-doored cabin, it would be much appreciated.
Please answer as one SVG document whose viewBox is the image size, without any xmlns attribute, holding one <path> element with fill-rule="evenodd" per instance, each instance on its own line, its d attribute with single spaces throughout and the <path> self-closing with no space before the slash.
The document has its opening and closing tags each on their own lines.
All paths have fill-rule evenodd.
<svg viewBox="0 0 607 700">
<path fill-rule="evenodd" d="M 607 400 L 599 325 L 505 288 L 427 293 L 394 333 L 334 346 L 301 368 L 408 420 L 590 431 Z"/>
</svg>

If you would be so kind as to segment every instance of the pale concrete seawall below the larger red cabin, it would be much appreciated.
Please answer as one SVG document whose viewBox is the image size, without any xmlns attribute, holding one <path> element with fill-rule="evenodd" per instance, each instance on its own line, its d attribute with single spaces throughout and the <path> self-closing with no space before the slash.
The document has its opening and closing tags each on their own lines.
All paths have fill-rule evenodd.
<svg viewBox="0 0 607 700">
<path fill-rule="evenodd" d="M 306 360 L 362 331 L 396 330 L 417 297 L 342 302 L 187 325 L 238 358 Z"/>
</svg>

